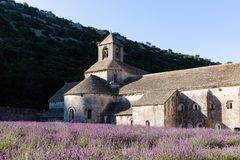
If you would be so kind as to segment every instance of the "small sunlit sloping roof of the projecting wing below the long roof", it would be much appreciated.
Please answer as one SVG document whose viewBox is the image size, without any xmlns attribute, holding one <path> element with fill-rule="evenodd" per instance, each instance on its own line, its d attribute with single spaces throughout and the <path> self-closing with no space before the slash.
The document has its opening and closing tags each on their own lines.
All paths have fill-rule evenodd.
<svg viewBox="0 0 240 160">
<path fill-rule="evenodd" d="M 164 104 L 174 93 L 176 90 L 169 90 L 169 91 L 149 91 L 144 94 L 144 96 L 136 101 L 133 102 L 133 106 L 143 106 L 143 105 L 155 105 L 155 104 Z"/>
</svg>

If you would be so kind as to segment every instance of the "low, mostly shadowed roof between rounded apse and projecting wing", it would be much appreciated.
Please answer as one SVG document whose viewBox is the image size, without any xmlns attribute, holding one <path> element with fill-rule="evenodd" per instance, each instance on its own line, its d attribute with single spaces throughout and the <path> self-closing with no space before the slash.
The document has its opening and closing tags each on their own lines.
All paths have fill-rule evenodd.
<svg viewBox="0 0 240 160">
<path fill-rule="evenodd" d="M 131 104 L 128 101 L 114 102 L 109 105 L 105 115 L 131 115 L 132 108 Z"/>
</svg>

